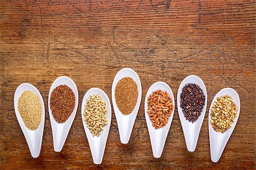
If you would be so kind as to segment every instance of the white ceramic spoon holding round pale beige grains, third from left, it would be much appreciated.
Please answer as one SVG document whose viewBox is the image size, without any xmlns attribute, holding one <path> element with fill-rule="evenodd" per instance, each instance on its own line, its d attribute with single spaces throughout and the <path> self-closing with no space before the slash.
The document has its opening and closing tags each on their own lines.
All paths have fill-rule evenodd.
<svg viewBox="0 0 256 170">
<path fill-rule="evenodd" d="M 101 100 L 104 100 L 106 102 L 106 107 L 107 107 L 106 118 L 108 120 L 108 124 L 103 127 L 104 129 L 101 131 L 101 134 L 98 137 L 97 136 L 93 137 L 92 133 L 90 133 L 90 130 L 87 128 L 86 123 L 84 121 L 85 104 L 91 95 L 101 95 Z M 106 141 L 109 135 L 109 129 L 110 129 L 111 118 L 112 118 L 112 109 L 111 109 L 111 104 L 110 104 L 108 95 L 106 95 L 106 93 L 102 91 L 100 88 L 91 88 L 90 90 L 88 90 L 84 95 L 84 99 L 82 99 L 81 114 L 82 114 L 82 124 L 84 125 L 85 134 L 90 146 L 90 152 L 92 153 L 92 157 L 93 157 L 93 163 L 101 164 L 105 147 L 106 147 Z"/>
</svg>

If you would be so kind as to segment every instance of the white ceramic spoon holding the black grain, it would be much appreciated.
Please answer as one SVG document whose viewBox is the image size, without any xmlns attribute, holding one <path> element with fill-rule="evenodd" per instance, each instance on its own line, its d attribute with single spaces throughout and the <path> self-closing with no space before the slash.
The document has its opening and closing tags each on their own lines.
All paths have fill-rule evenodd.
<svg viewBox="0 0 256 170">
<path fill-rule="evenodd" d="M 195 83 L 198 86 L 200 86 L 201 90 L 203 90 L 204 95 L 205 95 L 203 111 L 201 112 L 201 115 L 196 120 L 196 122 L 193 122 L 193 123 L 186 120 L 186 118 L 184 117 L 184 113 L 182 112 L 182 109 L 180 107 L 180 95 L 182 92 L 182 88 L 185 86 L 185 84 L 188 84 L 188 83 Z M 187 149 L 189 152 L 193 152 L 196 149 L 196 144 L 198 141 L 201 126 L 204 121 L 206 109 L 207 109 L 207 90 L 205 88 L 203 80 L 200 79 L 199 76 L 196 76 L 196 75 L 187 76 L 180 83 L 180 87 L 177 92 L 177 111 L 179 113 L 180 122 L 181 122 L 181 126 L 183 129 L 184 137 L 185 137 L 185 142 L 186 142 Z"/>
</svg>

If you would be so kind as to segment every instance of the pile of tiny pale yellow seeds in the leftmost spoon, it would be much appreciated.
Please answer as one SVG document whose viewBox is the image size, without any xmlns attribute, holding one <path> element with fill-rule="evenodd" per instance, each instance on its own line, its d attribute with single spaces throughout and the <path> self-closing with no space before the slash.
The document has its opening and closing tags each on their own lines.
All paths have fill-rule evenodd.
<svg viewBox="0 0 256 170">
<path fill-rule="evenodd" d="M 30 130 L 36 130 L 42 117 L 39 97 L 32 91 L 24 91 L 18 100 L 18 110 L 25 126 Z"/>
</svg>

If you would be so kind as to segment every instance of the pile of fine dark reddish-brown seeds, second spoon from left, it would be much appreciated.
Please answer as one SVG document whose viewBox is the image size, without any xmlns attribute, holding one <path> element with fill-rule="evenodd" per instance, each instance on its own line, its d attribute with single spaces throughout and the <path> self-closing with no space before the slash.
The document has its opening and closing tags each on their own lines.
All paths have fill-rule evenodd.
<svg viewBox="0 0 256 170">
<path fill-rule="evenodd" d="M 51 94 L 50 108 L 57 123 L 68 120 L 75 108 L 75 94 L 67 85 L 57 86 Z"/>
</svg>

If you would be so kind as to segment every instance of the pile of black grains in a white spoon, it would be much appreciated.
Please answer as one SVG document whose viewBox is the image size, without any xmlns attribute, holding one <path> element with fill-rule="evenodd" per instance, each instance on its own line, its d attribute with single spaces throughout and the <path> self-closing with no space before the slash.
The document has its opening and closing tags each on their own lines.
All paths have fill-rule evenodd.
<svg viewBox="0 0 256 170">
<path fill-rule="evenodd" d="M 189 122 L 195 122 L 204 108 L 205 95 L 203 90 L 193 83 L 186 84 L 180 95 L 180 107 Z"/>
</svg>

